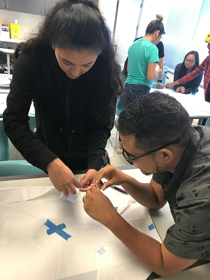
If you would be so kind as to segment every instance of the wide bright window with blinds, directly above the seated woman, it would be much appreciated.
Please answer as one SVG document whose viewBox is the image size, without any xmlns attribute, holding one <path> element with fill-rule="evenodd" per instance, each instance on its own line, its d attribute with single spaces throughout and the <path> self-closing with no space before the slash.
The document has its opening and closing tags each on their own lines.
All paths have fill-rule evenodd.
<svg viewBox="0 0 210 280">
<path fill-rule="evenodd" d="M 165 65 L 172 70 L 183 62 L 184 56 L 189 52 L 202 2 L 202 0 L 177 0 L 170 5 L 163 43 Z"/>
</svg>

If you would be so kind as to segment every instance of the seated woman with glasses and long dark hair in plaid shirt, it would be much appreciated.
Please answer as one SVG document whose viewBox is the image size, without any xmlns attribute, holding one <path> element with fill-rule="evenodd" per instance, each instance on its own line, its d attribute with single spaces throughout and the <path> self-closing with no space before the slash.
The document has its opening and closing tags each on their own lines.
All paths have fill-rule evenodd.
<svg viewBox="0 0 210 280">
<path fill-rule="evenodd" d="M 176 65 L 174 71 L 174 81 L 181 79 L 185 75 L 191 73 L 195 68 L 199 66 L 199 55 L 196 51 L 191 51 L 186 54 L 184 61 Z M 174 86 L 176 92 L 182 92 L 185 94 L 198 92 L 198 87 L 202 81 L 203 73 L 198 75 L 192 81 L 182 83 Z"/>
</svg>

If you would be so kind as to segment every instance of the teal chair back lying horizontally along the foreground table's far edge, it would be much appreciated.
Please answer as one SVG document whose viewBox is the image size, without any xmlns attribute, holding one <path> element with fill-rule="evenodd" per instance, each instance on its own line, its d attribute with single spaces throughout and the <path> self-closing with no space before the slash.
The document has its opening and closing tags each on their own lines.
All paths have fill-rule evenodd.
<svg viewBox="0 0 210 280">
<path fill-rule="evenodd" d="M 44 173 L 28 161 L 0 161 L 0 177 Z"/>
</svg>

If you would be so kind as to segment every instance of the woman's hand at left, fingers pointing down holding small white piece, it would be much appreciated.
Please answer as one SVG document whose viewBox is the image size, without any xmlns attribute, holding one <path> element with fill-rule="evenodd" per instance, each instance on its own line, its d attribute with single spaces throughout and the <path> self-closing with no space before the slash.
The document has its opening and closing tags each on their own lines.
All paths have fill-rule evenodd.
<svg viewBox="0 0 210 280">
<path fill-rule="evenodd" d="M 72 171 L 59 159 L 55 158 L 47 166 L 49 179 L 58 191 L 63 191 L 64 195 L 76 194 L 73 184 L 81 188 L 81 183 L 75 178 Z"/>
</svg>

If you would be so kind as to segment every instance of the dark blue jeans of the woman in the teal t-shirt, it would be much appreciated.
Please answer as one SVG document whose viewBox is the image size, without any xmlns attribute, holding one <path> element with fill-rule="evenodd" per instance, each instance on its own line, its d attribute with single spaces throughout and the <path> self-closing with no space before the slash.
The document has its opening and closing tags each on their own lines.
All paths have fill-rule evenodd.
<svg viewBox="0 0 210 280">
<path fill-rule="evenodd" d="M 148 94 L 150 89 L 151 88 L 149 86 L 126 83 L 124 87 L 124 95 L 125 95 L 124 107 L 127 106 L 132 101 L 134 101 L 136 98 Z M 119 144 L 122 144 L 120 137 L 119 137 Z"/>
</svg>

